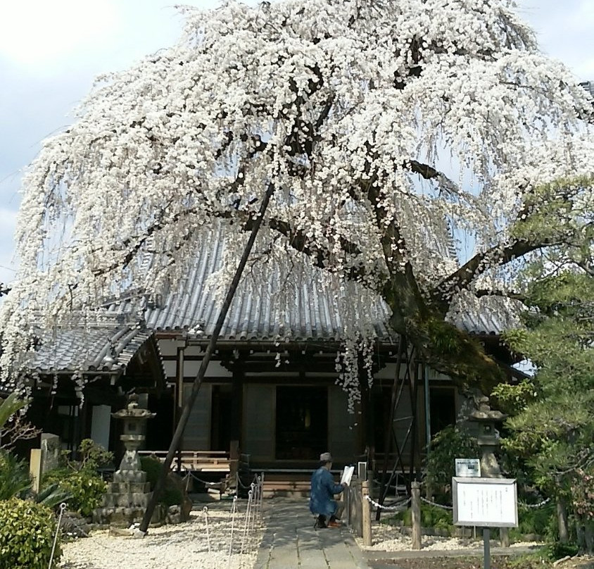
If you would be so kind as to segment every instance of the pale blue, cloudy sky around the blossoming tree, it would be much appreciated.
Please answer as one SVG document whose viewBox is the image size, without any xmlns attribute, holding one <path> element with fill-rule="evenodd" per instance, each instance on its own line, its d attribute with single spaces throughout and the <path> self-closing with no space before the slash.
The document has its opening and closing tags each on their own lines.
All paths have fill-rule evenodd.
<svg viewBox="0 0 594 569">
<path fill-rule="evenodd" d="M 218 0 L 182 0 L 212 8 Z M 247 2 L 255 4 L 255 0 Z M 519 0 L 541 49 L 594 80 L 594 1 Z M 0 19 L 0 282 L 13 279 L 23 169 L 96 75 L 170 46 L 182 18 L 167 0 L 9 0 Z"/>
</svg>

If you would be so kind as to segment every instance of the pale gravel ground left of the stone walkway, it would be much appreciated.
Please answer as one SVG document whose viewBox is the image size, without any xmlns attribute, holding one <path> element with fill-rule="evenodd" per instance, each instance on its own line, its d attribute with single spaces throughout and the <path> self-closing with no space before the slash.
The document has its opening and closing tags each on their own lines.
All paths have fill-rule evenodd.
<svg viewBox="0 0 594 569">
<path fill-rule="evenodd" d="M 161 569 L 193 567 L 200 569 L 250 569 L 262 537 L 257 520 L 248 524 L 245 504 L 231 514 L 228 501 L 196 506 L 190 520 L 177 525 L 149 527 L 142 538 L 115 536 L 108 530 L 95 530 L 90 537 L 63 544 L 62 569 Z M 207 523 L 208 518 L 208 523 Z M 229 546 L 232 540 L 232 558 Z M 241 554 L 243 544 L 244 554 Z M 247 553 L 246 553 L 247 551 Z"/>
</svg>

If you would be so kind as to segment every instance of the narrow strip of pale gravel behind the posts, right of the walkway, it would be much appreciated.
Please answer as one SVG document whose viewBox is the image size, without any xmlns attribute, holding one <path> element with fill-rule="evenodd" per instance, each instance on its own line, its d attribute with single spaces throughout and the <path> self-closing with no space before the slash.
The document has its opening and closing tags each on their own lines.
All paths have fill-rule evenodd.
<svg viewBox="0 0 594 569">
<path fill-rule="evenodd" d="M 412 539 L 400 534 L 396 527 L 391 525 L 372 522 L 372 545 L 363 545 L 363 540 L 356 537 L 358 546 L 365 551 L 407 551 L 412 550 Z M 511 545 L 513 548 L 530 547 L 542 545 L 538 542 L 518 542 Z M 462 539 L 460 537 L 439 537 L 436 535 L 424 535 L 421 539 L 421 546 L 424 551 L 450 551 L 453 549 L 480 549 L 483 546 L 482 539 Z M 499 542 L 491 540 L 491 547 L 499 546 Z"/>
</svg>

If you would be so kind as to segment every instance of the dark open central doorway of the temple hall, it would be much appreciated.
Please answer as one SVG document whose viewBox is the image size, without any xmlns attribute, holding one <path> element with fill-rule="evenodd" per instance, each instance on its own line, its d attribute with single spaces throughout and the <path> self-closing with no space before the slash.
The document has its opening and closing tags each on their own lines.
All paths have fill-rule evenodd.
<svg viewBox="0 0 594 569">
<path fill-rule="evenodd" d="M 327 387 L 277 386 L 277 460 L 317 460 L 328 444 Z"/>
</svg>

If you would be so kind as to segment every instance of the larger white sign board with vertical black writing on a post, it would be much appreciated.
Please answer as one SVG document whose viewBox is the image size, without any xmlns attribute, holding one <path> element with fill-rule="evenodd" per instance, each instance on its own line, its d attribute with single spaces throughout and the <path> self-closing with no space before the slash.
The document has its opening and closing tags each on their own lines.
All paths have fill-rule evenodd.
<svg viewBox="0 0 594 569">
<path fill-rule="evenodd" d="M 517 484 L 511 478 L 452 479 L 454 524 L 517 527 Z"/>
</svg>

